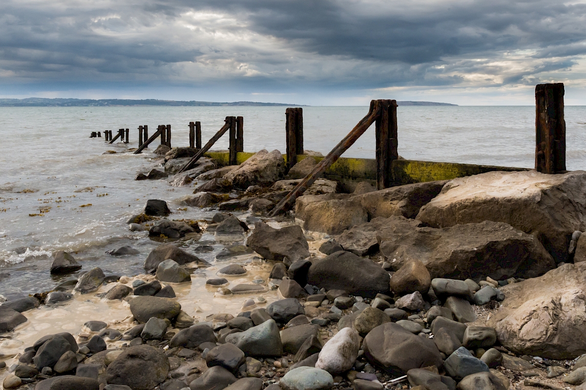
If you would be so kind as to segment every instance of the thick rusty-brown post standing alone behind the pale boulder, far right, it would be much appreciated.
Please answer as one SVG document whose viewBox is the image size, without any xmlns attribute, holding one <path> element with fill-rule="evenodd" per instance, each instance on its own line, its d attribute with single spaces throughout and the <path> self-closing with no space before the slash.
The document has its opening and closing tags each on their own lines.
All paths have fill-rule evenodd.
<svg viewBox="0 0 586 390">
<path fill-rule="evenodd" d="M 564 84 L 535 87 L 535 169 L 541 173 L 564 173 Z"/>
</svg>

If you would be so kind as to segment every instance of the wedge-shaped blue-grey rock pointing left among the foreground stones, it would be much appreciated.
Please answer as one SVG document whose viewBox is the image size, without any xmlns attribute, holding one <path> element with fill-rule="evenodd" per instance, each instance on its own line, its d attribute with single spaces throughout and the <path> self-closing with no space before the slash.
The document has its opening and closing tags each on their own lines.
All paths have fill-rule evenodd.
<svg viewBox="0 0 586 390">
<path fill-rule="evenodd" d="M 230 334 L 226 337 L 226 343 L 236 345 L 247 356 L 281 356 L 283 354 L 279 329 L 274 320 L 265 321 L 240 333 Z"/>
</svg>

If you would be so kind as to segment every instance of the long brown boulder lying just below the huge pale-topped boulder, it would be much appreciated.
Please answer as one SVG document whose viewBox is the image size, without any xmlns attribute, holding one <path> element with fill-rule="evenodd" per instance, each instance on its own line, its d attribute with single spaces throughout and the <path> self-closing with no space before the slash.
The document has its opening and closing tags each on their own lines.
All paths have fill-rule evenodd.
<svg viewBox="0 0 586 390">
<path fill-rule="evenodd" d="M 432 279 L 503 280 L 534 278 L 555 266 L 537 238 L 506 223 L 483 221 L 438 229 L 417 227 L 414 221 L 390 217 L 377 234 L 380 251 L 394 270 L 420 260 Z"/>
</svg>

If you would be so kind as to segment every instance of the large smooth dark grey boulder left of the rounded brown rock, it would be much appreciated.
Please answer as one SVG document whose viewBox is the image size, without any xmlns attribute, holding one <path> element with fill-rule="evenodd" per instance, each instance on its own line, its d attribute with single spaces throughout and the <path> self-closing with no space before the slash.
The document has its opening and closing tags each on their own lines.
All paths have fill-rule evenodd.
<svg viewBox="0 0 586 390">
<path fill-rule="evenodd" d="M 309 267 L 308 283 L 326 290 L 345 290 L 363 297 L 389 292 L 389 273 L 369 259 L 346 251 L 316 259 Z"/>
</svg>

